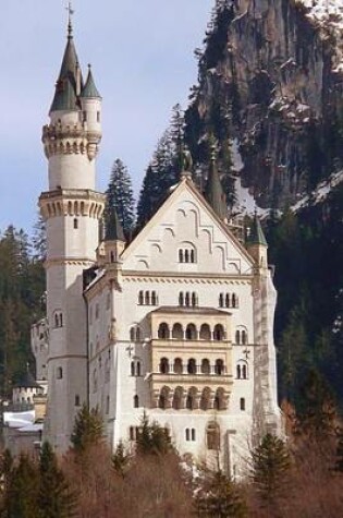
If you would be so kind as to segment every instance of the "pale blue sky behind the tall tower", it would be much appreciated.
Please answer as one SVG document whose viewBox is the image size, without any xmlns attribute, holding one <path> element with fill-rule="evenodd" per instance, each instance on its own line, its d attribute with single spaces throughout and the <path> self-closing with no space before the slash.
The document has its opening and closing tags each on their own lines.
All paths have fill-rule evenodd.
<svg viewBox="0 0 343 518">
<path fill-rule="evenodd" d="M 74 0 L 74 38 L 103 98 L 98 189 L 120 157 L 136 193 L 171 107 L 186 106 L 196 83 L 193 50 L 201 46 L 215 0 Z M 66 2 L 2 0 L 0 58 L 0 230 L 30 232 L 47 189 L 40 142 L 65 46 Z"/>
</svg>

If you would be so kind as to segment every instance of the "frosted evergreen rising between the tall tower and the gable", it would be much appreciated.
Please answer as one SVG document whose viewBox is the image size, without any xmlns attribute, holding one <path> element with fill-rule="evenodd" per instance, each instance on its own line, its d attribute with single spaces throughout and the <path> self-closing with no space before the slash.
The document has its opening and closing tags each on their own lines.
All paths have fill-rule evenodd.
<svg viewBox="0 0 343 518">
<path fill-rule="evenodd" d="M 107 213 L 115 208 L 124 232 L 130 234 L 135 222 L 135 201 L 127 167 L 120 158 L 114 160 L 106 195 Z"/>
</svg>

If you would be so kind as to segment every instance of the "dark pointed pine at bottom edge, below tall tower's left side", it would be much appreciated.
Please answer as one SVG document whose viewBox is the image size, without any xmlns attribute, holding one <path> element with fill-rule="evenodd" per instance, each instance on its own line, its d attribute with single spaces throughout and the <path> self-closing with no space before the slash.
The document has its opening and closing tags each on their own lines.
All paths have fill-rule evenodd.
<svg viewBox="0 0 343 518">
<path fill-rule="evenodd" d="M 75 495 L 58 467 L 49 443 L 44 443 L 39 460 L 39 518 L 68 518 L 74 516 Z"/>
</svg>

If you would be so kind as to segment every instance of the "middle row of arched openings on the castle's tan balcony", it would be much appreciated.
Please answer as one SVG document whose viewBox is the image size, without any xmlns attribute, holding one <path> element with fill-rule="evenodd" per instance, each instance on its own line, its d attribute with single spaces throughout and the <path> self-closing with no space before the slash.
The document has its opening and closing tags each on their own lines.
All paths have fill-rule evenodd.
<svg viewBox="0 0 343 518">
<path fill-rule="evenodd" d="M 220 358 L 212 365 L 207 358 L 204 358 L 199 364 L 194 358 L 189 358 L 186 363 L 181 358 L 175 358 L 173 362 L 170 362 L 168 358 L 161 358 L 159 371 L 161 374 L 217 374 L 221 376 L 225 373 L 225 365 Z"/>
</svg>

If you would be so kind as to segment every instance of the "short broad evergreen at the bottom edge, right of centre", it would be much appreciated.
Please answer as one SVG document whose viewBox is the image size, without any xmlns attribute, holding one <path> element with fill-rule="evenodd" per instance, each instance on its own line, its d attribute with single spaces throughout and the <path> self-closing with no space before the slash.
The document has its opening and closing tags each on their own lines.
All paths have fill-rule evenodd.
<svg viewBox="0 0 343 518">
<path fill-rule="evenodd" d="M 236 485 L 221 471 L 207 473 L 195 497 L 196 515 L 204 518 L 244 518 L 247 508 Z"/>
</svg>

